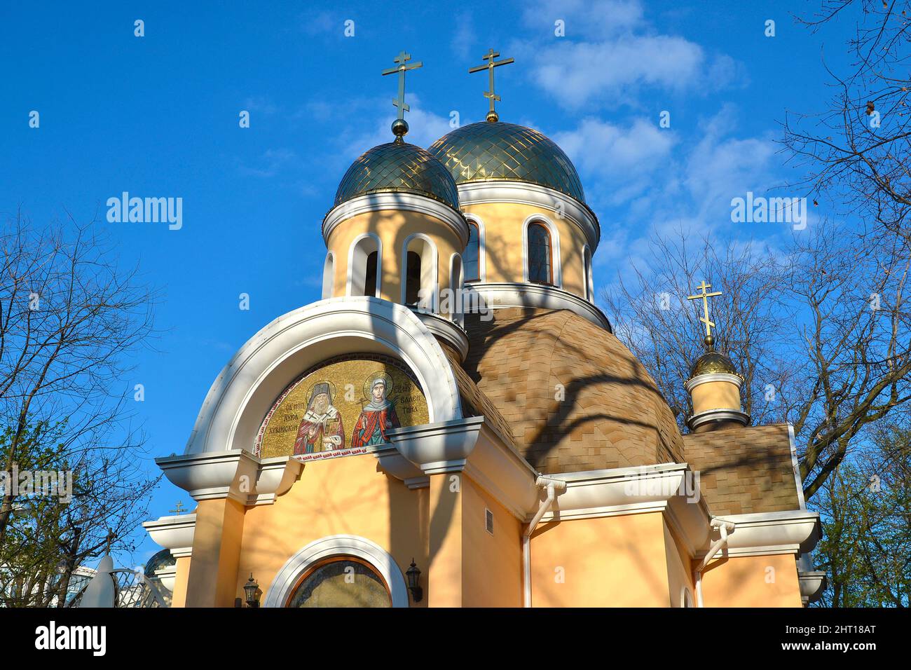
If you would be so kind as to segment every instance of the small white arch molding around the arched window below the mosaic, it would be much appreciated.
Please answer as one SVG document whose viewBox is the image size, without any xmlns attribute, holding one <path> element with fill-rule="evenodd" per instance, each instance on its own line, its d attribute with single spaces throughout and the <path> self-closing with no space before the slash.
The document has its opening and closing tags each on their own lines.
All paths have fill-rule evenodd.
<svg viewBox="0 0 911 670">
<path fill-rule="evenodd" d="M 302 575 L 314 565 L 336 556 L 354 556 L 370 563 L 383 575 L 393 607 L 408 607 L 408 587 L 395 559 L 374 541 L 357 535 L 330 535 L 312 541 L 295 553 L 275 575 L 266 592 L 263 607 L 284 607 Z"/>
</svg>

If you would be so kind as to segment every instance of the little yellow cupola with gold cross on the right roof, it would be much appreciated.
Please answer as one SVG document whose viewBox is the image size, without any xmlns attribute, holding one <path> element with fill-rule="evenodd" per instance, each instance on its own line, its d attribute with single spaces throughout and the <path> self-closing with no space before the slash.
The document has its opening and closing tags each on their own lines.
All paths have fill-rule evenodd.
<svg viewBox="0 0 911 670">
<path fill-rule="evenodd" d="M 750 423 L 750 416 L 742 411 L 741 406 L 743 377 L 730 358 L 715 351 L 715 337 L 711 335 L 715 325 L 709 319 L 709 298 L 722 293 L 707 293 L 711 283 L 704 281 L 697 288 L 701 294 L 687 296 L 687 299 L 702 301 L 700 321 L 705 325 L 703 342 L 706 352 L 693 363 L 686 382 L 686 390 L 692 399 L 692 414 L 687 419 L 687 425 L 694 433 L 746 426 Z"/>
</svg>

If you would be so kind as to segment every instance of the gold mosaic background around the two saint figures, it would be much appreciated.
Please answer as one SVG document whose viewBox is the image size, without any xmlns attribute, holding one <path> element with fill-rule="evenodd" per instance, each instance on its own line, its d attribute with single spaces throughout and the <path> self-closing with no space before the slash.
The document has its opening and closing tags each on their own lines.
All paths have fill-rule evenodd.
<svg viewBox="0 0 911 670">
<path fill-rule="evenodd" d="M 307 402 L 313 386 L 329 382 L 332 389 L 333 405 L 342 415 L 344 443 L 342 448 L 351 448 L 354 425 L 361 416 L 361 409 L 369 400 L 367 384 L 377 373 L 384 372 L 393 380 L 393 388 L 387 397 L 395 403 L 395 412 L 402 426 L 420 426 L 428 423 L 427 402 L 411 377 L 396 365 L 392 359 L 356 358 L 329 363 L 312 371 L 292 384 L 291 391 L 275 406 L 271 417 L 263 421 L 259 456 L 268 459 L 274 456 L 291 456 L 294 440 L 301 419 L 307 411 Z M 399 364 L 400 365 L 400 364 Z M 283 395 L 282 392 L 281 395 Z M 280 395 L 280 397 L 281 397 Z"/>
</svg>

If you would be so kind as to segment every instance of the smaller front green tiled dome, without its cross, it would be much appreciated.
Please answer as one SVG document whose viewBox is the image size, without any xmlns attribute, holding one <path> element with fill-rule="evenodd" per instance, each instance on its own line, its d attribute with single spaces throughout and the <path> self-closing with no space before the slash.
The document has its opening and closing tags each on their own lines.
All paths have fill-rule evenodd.
<svg viewBox="0 0 911 670">
<path fill-rule="evenodd" d="M 416 193 L 458 210 L 458 190 L 449 171 L 426 149 L 389 142 L 365 151 L 344 173 L 335 206 L 366 193 Z"/>
</svg>

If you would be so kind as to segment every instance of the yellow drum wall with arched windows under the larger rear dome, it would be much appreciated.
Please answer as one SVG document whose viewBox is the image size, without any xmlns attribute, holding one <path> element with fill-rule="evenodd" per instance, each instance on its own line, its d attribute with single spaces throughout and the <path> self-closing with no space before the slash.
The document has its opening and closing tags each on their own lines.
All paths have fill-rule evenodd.
<svg viewBox="0 0 911 670">
<path fill-rule="evenodd" d="M 529 216 L 540 215 L 552 222 L 559 233 L 560 264 L 563 285 L 569 293 L 585 297 L 583 249 L 585 235 L 568 219 L 558 219 L 553 211 L 517 202 L 488 202 L 465 208 L 466 216 L 474 214 L 484 224 L 486 282 L 524 281 L 522 227 Z M 551 242 L 552 246 L 556 246 Z M 594 253 L 594 250 L 592 250 Z"/>
</svg>

